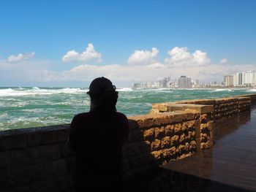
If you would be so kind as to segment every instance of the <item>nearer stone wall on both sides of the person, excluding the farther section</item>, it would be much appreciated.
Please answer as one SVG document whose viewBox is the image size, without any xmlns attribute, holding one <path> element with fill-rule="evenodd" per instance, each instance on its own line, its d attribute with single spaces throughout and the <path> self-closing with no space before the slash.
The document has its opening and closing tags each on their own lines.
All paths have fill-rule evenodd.
<svg viewBox="0 0 256 192">
<path fill-rule="evenodd" d="M 125 175 L 195 153 L 200 114 L 169 112 L 129 118 Z M 0 132 L 1 191 L 72 191 L 75 156 L 67 147 L 68 125 Z M 197 131 L 196 131 L 197 129 Z"/>
</svg>

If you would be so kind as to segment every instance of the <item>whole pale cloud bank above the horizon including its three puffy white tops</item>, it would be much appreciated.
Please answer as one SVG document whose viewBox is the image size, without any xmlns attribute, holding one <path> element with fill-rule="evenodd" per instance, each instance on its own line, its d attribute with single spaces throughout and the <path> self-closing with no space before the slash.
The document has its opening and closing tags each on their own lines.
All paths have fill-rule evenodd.
<svg viewBox="0 0 256 192">
<path fill-rule="evenodd" d="M 18 64 L 0 60 L 0 80 L 19 80 L 29 82 L 90 82 L 95 77 L 108 77 L 118 85 L 132 85 L 132 82 L 154 81 L 160 77 L 170 76 L 177 79 L 187 75 L 200 82 L 222 82 L 223 75 L 256 71 L 254 64 L 230 64 L 222 58 L 214 64 L 203 50 L 190 52 L 187 47 L 173 47 L 167 51 L 167 58 L 158 59 L 159 50 L 135 50 L 127 58 L 127 64 L 94 65 L 94 61 L 102 58 L 92 44 L 86 51 L 76 53 L 70 51 L 64 55 L 64 61 L 80 61 L 80 64 L 67 70 L 51 70 L 50 62 L 24 59 Z M 72 55 L 73 54 L 73 55 Z M 91 61 L 91 64 L 88 62 Z M 61 63 L 60 63 L 61 65 Z M 8 74 L 8 75 L 7 75 Z M 5 79 L 3 79 L 5 78 Z"/>
</svg>

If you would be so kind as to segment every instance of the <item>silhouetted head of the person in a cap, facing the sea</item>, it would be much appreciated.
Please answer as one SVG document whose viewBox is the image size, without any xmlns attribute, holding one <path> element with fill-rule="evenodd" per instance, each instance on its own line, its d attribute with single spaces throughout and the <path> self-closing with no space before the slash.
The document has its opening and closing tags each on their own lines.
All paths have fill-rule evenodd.
<svg viewBox="0 0 256 192">
<path fill-rule="evenodd" d="M 118 92 L 116 86 L 107 78 L 94 79 L 87 93 L 91 98 L 91 110 L 99 108 L 105 112 L 116 112 Z"/>
</svg>

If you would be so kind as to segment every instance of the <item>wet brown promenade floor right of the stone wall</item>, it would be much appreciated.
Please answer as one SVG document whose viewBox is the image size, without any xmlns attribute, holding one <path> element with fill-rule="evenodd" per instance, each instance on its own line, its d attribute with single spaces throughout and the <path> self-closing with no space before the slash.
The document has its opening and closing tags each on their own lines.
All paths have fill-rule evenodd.
<svg viewBox="0 0 256 192">
<path fill-rule="evenodd" d="M 208 181 L 202 191 L 256 191 L 256 109 L 216 124 L 211 150 L 161 167 Z"/>
</svg>

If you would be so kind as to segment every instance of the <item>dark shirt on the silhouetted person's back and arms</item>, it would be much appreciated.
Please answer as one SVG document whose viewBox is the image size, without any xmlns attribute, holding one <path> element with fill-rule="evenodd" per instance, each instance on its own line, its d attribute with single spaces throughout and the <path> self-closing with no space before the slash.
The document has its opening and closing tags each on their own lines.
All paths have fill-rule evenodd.
<svg viewBox="0 0 256 192">
<path fill-rule="evenodd" d="M 121 148 L 128 137 L 127 117 L 100 110 L 75 115 L 69 128 L 69 146 L 75 150 L 75 185 L 120 183 Z"/>
</svg>

